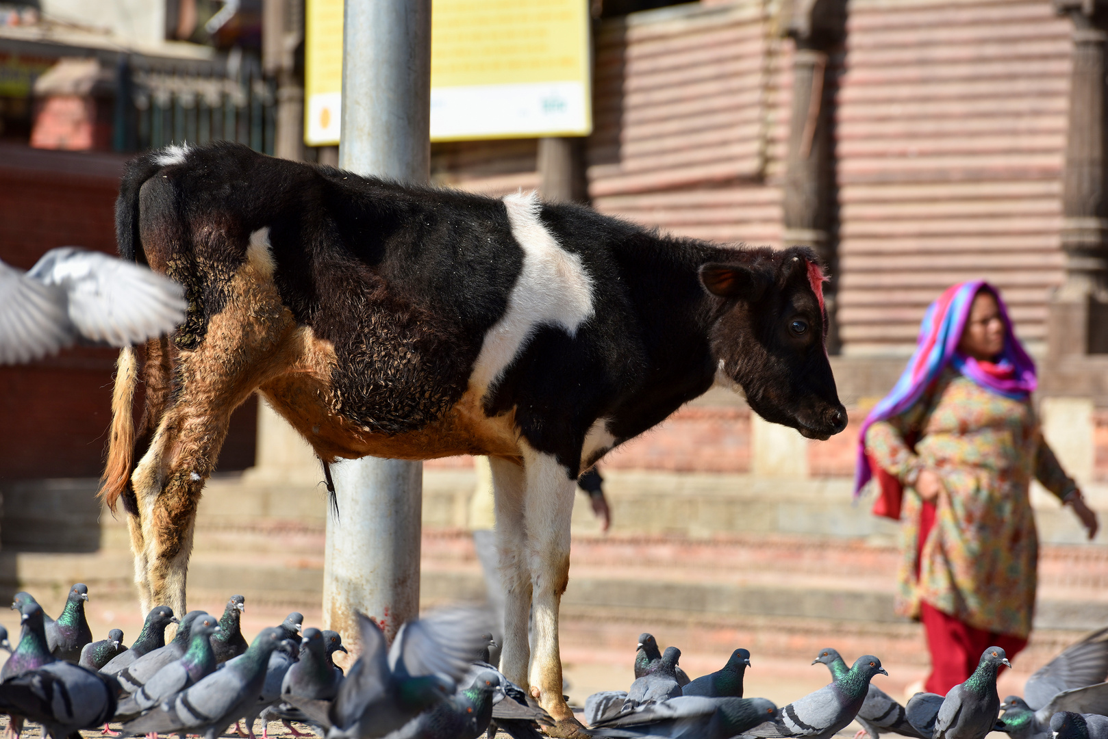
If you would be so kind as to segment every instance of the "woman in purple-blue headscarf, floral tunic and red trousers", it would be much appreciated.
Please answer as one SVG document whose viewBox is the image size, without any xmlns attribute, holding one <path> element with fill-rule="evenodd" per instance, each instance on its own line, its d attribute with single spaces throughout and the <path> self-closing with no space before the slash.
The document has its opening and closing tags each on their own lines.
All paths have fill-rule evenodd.
<svg viewBox="0 0 1108 739">
<path fill-rule="evenodd" d="M 927 309 L 907 368 L 862 424 L 855 494 L 872 476 L 873 512 L 904 521 L 896 610 L 923 622 L 931 692 L 964 681 L 991 645 L 1008 657 L 1027 645 L 1032 476 L 1096 535 L 1096 514 L 1043 440 L 1035 384 L 999 292 L 962 283 Z"/>
</svg>

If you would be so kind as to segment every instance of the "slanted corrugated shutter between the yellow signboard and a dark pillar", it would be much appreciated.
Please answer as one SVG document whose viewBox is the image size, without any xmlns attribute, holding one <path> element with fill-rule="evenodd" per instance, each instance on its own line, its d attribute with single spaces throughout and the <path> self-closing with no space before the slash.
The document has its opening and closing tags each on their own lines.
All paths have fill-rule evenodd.
<svg viewBox="0 0 1108 739">
<path fill-rule="evenodd" d="M 598 211 L 684 236 L 780 243 L 780 188 L 763 184 L 783 142 L 780 44 L 766 4 L 604 23 L 588 153 Z"/>
</svg>

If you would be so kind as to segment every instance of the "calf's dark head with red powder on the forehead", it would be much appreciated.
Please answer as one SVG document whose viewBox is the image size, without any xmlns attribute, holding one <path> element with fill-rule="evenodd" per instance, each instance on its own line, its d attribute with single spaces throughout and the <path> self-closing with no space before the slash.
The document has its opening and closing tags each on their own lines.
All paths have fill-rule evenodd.
<svg viewBox="0 0 1108 739">
<path fill-rule="evenodd" d="M 757 249 L 700 267 L 720 370 L 767 421 L 809 439 L 847 428 L 827 353 L 823 271 L 811 249 Z"/>
</svg>

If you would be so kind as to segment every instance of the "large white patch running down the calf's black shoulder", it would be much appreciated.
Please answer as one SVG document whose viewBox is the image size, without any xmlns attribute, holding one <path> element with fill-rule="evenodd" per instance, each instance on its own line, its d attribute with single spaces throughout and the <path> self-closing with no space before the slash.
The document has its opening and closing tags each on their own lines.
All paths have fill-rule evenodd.
<svg viewBox="0 0 1108 739">
<path fill-rule="evenodd" d="M 581 257 L 563 249 L 538 218 L 537 195 L 504 197 L 523 268 L 507 296 L 507 310 L 485 333 L 470 381 L 484 392 L 541 326 L 574 336 L 593 315 L 593 280 Z"/>
</svg>

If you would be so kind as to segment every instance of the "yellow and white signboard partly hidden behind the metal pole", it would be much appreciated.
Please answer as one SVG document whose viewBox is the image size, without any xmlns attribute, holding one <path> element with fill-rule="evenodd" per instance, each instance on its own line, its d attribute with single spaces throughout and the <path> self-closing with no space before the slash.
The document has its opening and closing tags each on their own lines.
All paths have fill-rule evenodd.
<svg viewBox="0 0 1108 739">
<path fill-rule="evenodd" d="M 308 0 L 305 141 L 339 140 L 342 0 Z M 587 0 L 432 0 L 431 140 L 592 131 Z"/>
</svg>

